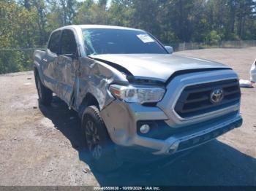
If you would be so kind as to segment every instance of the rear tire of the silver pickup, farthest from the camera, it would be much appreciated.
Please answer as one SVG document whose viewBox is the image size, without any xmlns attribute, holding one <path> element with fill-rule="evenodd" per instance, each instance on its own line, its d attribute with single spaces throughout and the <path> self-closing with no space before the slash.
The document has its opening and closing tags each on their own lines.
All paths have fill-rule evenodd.
<svg viewBox="0 0 256 191">
<path fill-rule="evenodd" d="M 53 92 L 42 84 L 38 74 L 36 74 L 35 81 L 37 86 L 39 104 L 49 106 L 51 101 L 53 100 Z"/>
</svg>

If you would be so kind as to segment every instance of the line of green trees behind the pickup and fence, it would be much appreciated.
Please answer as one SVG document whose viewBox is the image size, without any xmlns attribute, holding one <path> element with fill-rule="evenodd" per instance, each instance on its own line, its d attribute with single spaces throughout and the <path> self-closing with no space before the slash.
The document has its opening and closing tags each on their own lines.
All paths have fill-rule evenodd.
<svg viewBox="0 0 256 191">
<path fill-rule="evenodd" d="M 256 39 L 255 0 L 0 0 L 0 74 L 31 69 L 33 50 L 71 24 L 141 28 L 164 44 Z"/>
</svg>

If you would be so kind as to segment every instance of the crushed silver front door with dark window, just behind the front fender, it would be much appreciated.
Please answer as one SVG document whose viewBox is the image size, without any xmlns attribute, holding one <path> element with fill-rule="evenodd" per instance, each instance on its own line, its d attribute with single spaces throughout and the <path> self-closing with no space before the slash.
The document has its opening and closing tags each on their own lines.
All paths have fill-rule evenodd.
<svg viewBox="0 0 256 191">
<path fill-rule="evenodd" d="M 61 99 L 70 105 L 75 85 L 75 69 L 78 66 L 78 43 L 75 39 L 75 31 L 64 29 L 61 33 L 61 49 L 59 55 L 59 72 Z"/>
</svg>

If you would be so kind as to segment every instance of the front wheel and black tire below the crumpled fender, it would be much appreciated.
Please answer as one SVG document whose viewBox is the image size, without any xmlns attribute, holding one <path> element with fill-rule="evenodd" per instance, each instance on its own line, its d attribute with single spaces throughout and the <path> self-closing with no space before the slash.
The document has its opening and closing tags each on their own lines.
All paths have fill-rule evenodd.
<svg viewBox="0 0 256 191">
<path fill-rule="evenodd" d="M 97 106 L 89 106 L 84 110 L 81 125 L 92 168 L 100 172 L 109 172 L 120 167 L 122 161 L 116 156 L 115 145 L 110 140 Z"/>
</svg>

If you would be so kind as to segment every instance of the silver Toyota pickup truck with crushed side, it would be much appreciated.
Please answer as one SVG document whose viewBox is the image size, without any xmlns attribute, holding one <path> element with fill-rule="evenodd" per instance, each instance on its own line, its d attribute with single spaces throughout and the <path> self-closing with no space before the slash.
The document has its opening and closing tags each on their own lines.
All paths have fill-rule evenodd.
<svg viewBox="0 0 256 191">
<path fill-rule="evenodd" d="M 34 52 L 39 103 L 49 106 L 56 93 L 78 112 L 101 171 L 117 168 L 131 151 L 138 160 L 172 155 L 241 126 L 236 72 L 172 53 L 134 28 L 58 28 L 47 49 Z"/>
</svg>

